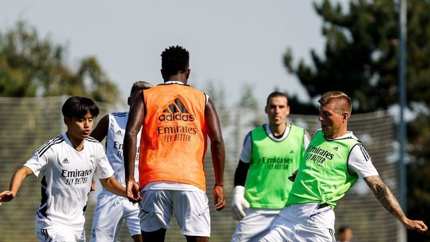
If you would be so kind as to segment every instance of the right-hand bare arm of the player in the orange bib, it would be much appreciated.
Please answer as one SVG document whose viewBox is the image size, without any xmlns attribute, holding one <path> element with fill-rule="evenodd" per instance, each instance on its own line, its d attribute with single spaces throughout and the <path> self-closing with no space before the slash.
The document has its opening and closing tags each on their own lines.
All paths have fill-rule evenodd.
<svg viewBox="0 0 430 242">
<path fill-rule="evenodd" d="M 211 139 L 212 163 L 215 171 L 214 204 L 215 209 L 219 211 L 225 207 L 226 202 L 224 188 L 222 187 L 224 181 L 225 148 L 218 114 L 210 98 L 205 109 L 205 126 Z"/>
</svg>

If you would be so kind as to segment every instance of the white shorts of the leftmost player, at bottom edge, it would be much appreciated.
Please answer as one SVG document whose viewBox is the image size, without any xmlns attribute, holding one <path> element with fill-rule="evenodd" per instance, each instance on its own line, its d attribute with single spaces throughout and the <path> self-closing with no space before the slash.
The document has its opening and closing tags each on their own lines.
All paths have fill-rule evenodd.
<svg viewBox="0 0 430 242">
<path fill-rule="evenodd" d="M 85 229 L 84 225 L 72 227 L 36 220 L 36 236 L 40 242 L 85 242 Z"/>
</svg>

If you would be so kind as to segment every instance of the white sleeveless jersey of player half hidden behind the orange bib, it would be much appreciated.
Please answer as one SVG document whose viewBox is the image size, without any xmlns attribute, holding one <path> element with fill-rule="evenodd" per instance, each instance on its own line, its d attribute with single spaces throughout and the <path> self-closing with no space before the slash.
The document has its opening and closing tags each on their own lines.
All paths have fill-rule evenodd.
<svg viewBox="0 0 430 242">
<path fill-rule="evenodd" d="M 113 170 L 115 178 L 126 186 L 124 170 L 124 134 L 126 132 L 129 112 L 112 112 L 109 114 L 109 129 L 106 137 L 106 155 Z M 137 134 L 137 150 L 134 166 L 134 179 L 139 181 L 139 149 L 140 149 L 140 132 Z"/>
</svg>

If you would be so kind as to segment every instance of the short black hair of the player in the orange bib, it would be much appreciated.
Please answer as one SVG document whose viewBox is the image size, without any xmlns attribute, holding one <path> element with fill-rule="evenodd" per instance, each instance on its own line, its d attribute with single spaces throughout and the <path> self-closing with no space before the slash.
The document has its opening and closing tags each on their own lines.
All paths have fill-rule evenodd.
<svg viewBox="0 0 430 242">
<path fill-rule="evenodd" d="M 182 46 L 170 46 L 161 53 L 161 69 L 168 75 L 187 71 L 190 53 Z"/>
</svg>

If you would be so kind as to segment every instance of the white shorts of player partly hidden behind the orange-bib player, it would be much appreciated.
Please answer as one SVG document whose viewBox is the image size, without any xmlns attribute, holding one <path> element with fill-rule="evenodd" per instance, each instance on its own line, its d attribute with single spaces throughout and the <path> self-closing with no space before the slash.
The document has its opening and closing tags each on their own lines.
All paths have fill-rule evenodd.
<svg viewBox="0 0 430 242">
<path fill-rule="evenodd" d="M 122 220 L 126 220 L 131 236 L 140 234 L 139 206 L 127 198 L 102 192 L 97 197 L 91 227 L 91 242 L 118 240 Z"/>
</svg>

